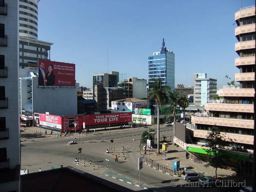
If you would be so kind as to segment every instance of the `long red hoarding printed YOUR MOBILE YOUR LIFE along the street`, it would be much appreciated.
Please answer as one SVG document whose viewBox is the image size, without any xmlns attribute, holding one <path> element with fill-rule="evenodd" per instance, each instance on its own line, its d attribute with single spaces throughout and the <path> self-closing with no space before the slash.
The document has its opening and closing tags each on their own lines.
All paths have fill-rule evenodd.
<svg viewBox="0 0 256 192">
<path fill-rule="evenodd" d="M 104 125 L 104 124 L 114 124 L 114 123 L 128 123 L 132 121 L 132 113 L 108 113 L 108 114 L 94 114 L 85 115 L 84 122 L 87 126 L 93 125 Z"/>
</svg>

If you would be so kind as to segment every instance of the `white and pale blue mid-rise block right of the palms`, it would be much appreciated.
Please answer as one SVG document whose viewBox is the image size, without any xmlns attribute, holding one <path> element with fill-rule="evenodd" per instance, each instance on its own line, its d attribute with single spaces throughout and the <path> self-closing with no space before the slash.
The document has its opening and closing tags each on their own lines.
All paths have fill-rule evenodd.
<svg viewBox="0 0 256 192">
<path fill-rule="evenodd" d="M 194 74 L 193 103 L 204 105 L 207 100 L 217 94 L 217 80 L 207 78 L 207 74 Z"/>
</svg>

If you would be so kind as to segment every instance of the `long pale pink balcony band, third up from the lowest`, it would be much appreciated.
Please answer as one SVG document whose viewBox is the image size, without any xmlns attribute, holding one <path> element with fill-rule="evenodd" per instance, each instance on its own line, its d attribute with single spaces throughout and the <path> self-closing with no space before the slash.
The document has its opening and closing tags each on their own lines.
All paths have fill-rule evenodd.
<svg viewBox="0 0 256 192">
<path fill-rule="evenodd" d="M 205 103 L 205 110 L 254 113 L 253 104 Z"/>
</svg>

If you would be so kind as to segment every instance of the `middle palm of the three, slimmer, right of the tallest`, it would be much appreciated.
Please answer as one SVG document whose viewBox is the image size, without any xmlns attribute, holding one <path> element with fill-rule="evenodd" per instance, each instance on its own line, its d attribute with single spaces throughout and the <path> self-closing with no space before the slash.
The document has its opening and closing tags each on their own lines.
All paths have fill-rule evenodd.
<svg viewBox="0 0 256 192">
<path fill-rule="evenodd" d="M 168 115 L 170 116 L 170 114 L 173 113 L 173 116 L 174 116 L 173 136 L 175 136 L 176 109 L 177 109 L 177 106 L 180 105 L 180 97 L 177 91 L 173 90 L 169 93 L 169 102 L 170 102 L 170 107 L 168 109 Z"/>
</svg>

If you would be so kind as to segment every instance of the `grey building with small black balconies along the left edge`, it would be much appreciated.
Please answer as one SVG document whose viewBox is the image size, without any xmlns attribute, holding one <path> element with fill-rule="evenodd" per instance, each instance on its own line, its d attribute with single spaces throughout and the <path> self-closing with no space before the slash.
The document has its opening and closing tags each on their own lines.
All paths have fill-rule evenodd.
<svg viewBox="0 0 256 192">
<path fill-rule="evenodd" d="M 1 192 L 20 191 L 18 5 L 16 0 L 0 0 Z"/>
</svg>

